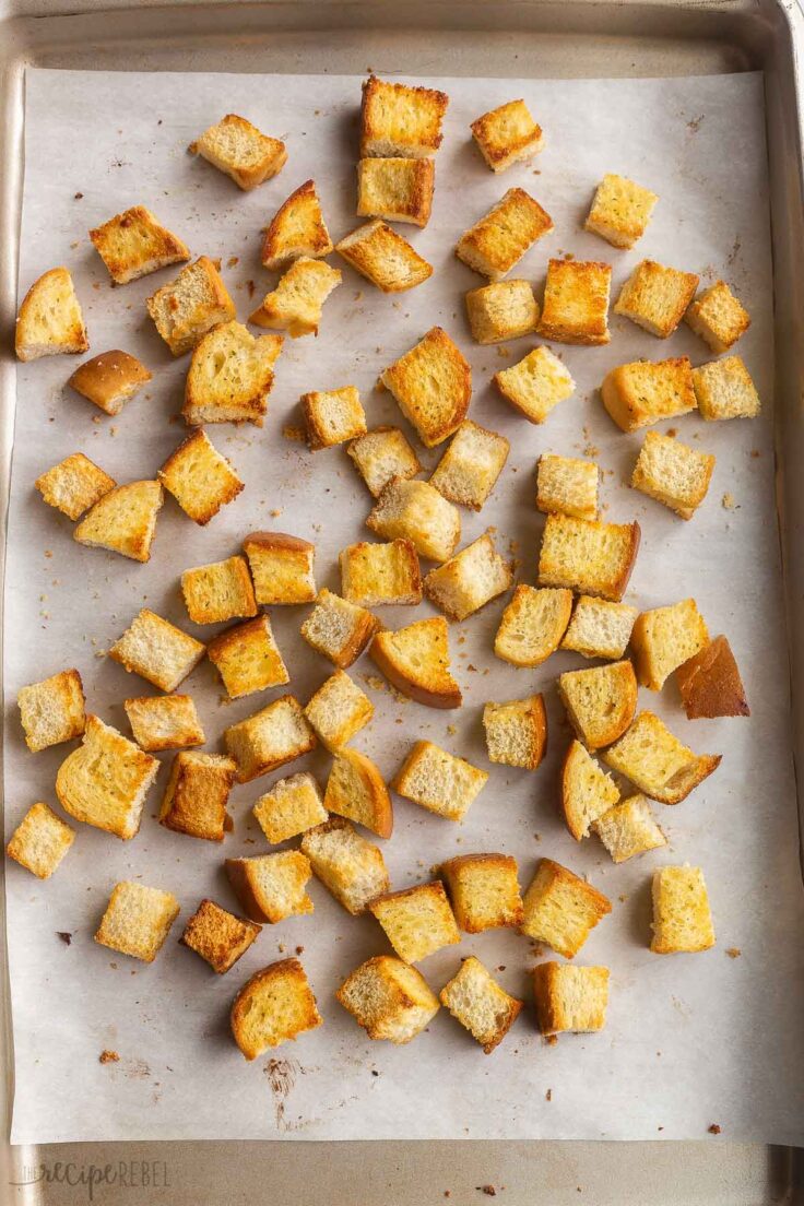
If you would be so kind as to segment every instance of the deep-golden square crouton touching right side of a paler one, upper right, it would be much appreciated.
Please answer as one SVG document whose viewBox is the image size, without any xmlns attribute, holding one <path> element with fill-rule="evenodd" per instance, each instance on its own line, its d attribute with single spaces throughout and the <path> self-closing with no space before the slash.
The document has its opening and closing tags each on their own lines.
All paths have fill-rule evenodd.
<svg viewBox="0 0 804 1206">
<path fill-rule="evenodd" d="M 608 344 L 610 288 L 610 264 L 548 260 L 539 334 L 559 344 Z"/>
</svg>

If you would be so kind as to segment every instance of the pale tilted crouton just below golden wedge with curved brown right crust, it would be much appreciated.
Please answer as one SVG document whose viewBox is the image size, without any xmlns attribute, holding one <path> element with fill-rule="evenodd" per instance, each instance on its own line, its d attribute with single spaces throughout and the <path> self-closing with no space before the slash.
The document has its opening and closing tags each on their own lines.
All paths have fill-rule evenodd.
<svg viewBox="0 0 804 1206">
<path fill-rule="evenodd" d="M 324 888 L 354 917 L 391 888 L 380 847 L 341 816 L 309 830 L 301 838 L 301 850 Z"/>
</svg>

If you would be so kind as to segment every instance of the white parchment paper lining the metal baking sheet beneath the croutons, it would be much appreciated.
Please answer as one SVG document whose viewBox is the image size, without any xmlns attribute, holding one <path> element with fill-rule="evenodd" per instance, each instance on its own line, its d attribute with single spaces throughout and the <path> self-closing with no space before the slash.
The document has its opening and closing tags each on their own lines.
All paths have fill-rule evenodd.
<svg viewBox="0 0 804 1206">
<path fill-rule="evenodd" d="M 365 1040 L 333 990 L 362 959 L 387 947 L 372 919 L 347 918 L 316 883 L 313 917 L 266 929 L 229 976 L 212 977 L 175 939 L 203 896 L 234 904 L 221 870 L 224 851 L 155 825 L 163 774 L 133 843 L 83 829 L 49 883 L 39 884 L 13 865 L 8 868 L 13 1140 L 699 1138 L 716 1125 L 730 1138 L 800 1142 L 802 888 L 773 511 L 771 408 L 751 423 L 704 426 L 687 416 L 673 425 L 682 438 L 700 439 L 702 447 L 718 456 L 705 507 L 692 523 L 682 525 L 623 488 L 641 440 L 612 427 L 594 390 L 612 364 L 685 352 L 699 363 L 709 358 L 704 346 L 686 329 L 658 344 L 614 318 L 608 347 L 557 349 L 579 390 L 545 427 L 532 427 L 489 386 L 491 374 L 518 359 L 532 341 L 513 343 L 507 356 L 471 345 L 462 294 L 480 279 L 451 251 L 460 230 L 505 188 L 522 185 L 551 212 L 557 230 L 515 275 L 540 285 L 547 257 L 559 252 L 610 260 L 615 295 L 629 265 L 644 254 L 692 268 L 704 280 L 726 275 L 750 305 L 753 323 L 740 351 L 769 404 L 771 292 L 761 77 L 432 81 L 446 88 L 452 103 L 436 162 L 434 217 L 427 230 L 411 238 L 434 263 L 434 277 L 394 299 L 339 265 L 345 283 L 327 303 L 318 339 L 286 344 L 265 428 L 211 429 L 246 490 L 206 531 L 196 529 L 169 500 L 147 566 L 75 545 L 69 522 L 45 508 L 31 485 L 43 468 L 75 450 L 118 480 L 147 476 L 183 434 L 176 414 L 186 361 L 170 361 L 142 304 L 170 273 L 112 291 L 86 230 L 127 205 L 149 205 L 194 254 L 221 256 L 245 317 L 256 304 L 248 282 L 254 282 L 256 297 L 270 286 L 259 268 L 259 228 L 292 188 L 316 177 L 334 236 L 357 224 L 352 213 L 359 81 L 29 71 L 27 82 L 20 289 L 52 264 L 68 263 L 84 305 L 92 351 L 124 347 L 152 367 L 154 381 L 122 416 L 108 420 L 64 392 L 72 362 L 45 361 L 19 370 L 6 620 L 10 825 L 34 800 L 54 802 L 53 778 L 66 753 L 66 747 L 39 755 L 25 751 L 13 702 L 17 689 L 76 665 L 89 707 L 127 731 L 122 699 L 146 693 L 147 685 L 99 655 L 143 602 L 196 631 L 186 624 L 178 595 L 186 566 L 229 555 L 253 527 L 276 526 L 316 540 L 319 585 L 338 589 L 338 551 L 363 537 L 369 497 L 342 450 L 312 456 L 283 439 L 282 428 L 298 422 L 301 392 L 347 382 L 360 387 L 371 425 L 399 422 L 393 402 L 372 390 L 374 381 L 435 322 L 471 359 L 471 416 L 513 444 L 492 502 L 477 516 L 462 515 L 464 539 L 493 525 L 501 549 L 515 541 L 521 580 L 534 581 L 542 523 L 533 507 L 535 458 L 542 451 L 595 456 L 608 470 L 606 515 L 635 516 L 642 525 L 628 598 L 651 607 L 694 595 L 711 631 L 724 631 L 732 640 L 753 715 L 750 721 L 689 725 L 671 689 L 662 697 L 640 692 L 641 707 L 661 712 L 696 749 L 723 753 L 724 760 L 687 802 L 675 809 L 657 806 L 670 839 L 665 850 L 614 867 L 593 841 L 577 847 L 557 814 L 557 765 L 569 733 L 553 684 L 557 673 L 580 661 L 559 655 L 535 672 L 497 662 L 491 638 L 504 601 L 453 628 L 456 673 L 466 699 L 459 713 L 438 715 L 399 703 L 360 679 L 374 681 L 371 663 L 363 660 L 354 667 L 377 706 L 374 724 L 356 744 L 383 772 L 393 773 L 410 742 L 422 736 L 492 772 L 460 827 L 397 802 L 397 831 L 385 845 L 394 886 L 426 878 L 432 863 L 454 853 L 500 849 L 520 860 L 523 886 L 535 860 L 548 854 L 587 873 L 615 903 L 612 917 L 579 956 L 612 970 L 606 1030 L 563 1036 L 547 1046 L 528 1007 L 491 1058 L 482 1056 L 445 1011 L 410 1047 Z M 532 166 L 494 177 L 469 145 L 466 125 L 479 111 L 513 95 L 532 104 L 547 133 L 547 150 Z M 243 112 L 288 140 L 284 171 L 248 195 L 184 153 L 223 109 Z M 608 170 L 633 175 L 662 195 L 650 232 L 634 252 L 617 252 L 579 230 L 594 183 Z M 231 257 L 239 262 L 229 265 Z M 423 459 L 434 464 L 438 451 Z M 395 626 L 427 610 L 386 609 L 383 620 Z M 298 637 L 299 611 L 277 609 L 272 620 L 291 668 L 291 689 L 306 699 L 328 675 L 329 663 Z M 223 707 L 209 665 L 186 687 L 199 704 L 210 748 L 217 748 L 225 725 L 271 697 Z M 547 697 L 547 762 L 535 775 L 489 767 L 482 703 L 534 689 Z M 324 755 L 304 765 L 325 777 Z M 225 854 L 265 849 L 259 830 L 250 824 L 250 807 L 268 781 L 233 794 L 236 824 Z M 646 949 L 650 874 L 656 865 L 680 861 L 700 863 L 706 872 L 718 946 L 706 955 L 661 960 Z M 171 889 L 182 902 L 182 917 L 149 967 L 92 942 L 112 884 L 131 876 Z M 69 946 L 59 932 L 72 935 Z M 272 1060 L 246 1065 L 228 1034 L 228 1006 L 236 988 L 278 958 L 281 947 L 284 953 L 304 947 L 301 958 L 325 1024 L 280 1048 Z M 529 999 L 527 968 L 534 952 L 515 935 L 466 937 L 460 948 L 438 953 L 422 970 L 438 990 L 459 956 L 469 953 L 504 968 L 501 983 Z M 117 1050 L 119 1061 L 100 1065 L 105 1048 Z M 212 1093 L 209 1085 L 215 1085 Z"/>
</svg>

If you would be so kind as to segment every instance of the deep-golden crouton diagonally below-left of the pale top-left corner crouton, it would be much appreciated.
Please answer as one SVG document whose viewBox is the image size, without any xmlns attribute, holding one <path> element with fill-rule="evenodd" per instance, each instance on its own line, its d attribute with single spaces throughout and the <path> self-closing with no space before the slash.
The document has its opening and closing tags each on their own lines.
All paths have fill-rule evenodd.
<svg viewBox="0 0 804 1206">
<path fill-rule="evenodd" d="M 95 251 L 116 285 L 128 285 L 189 259 L 189 248 L 171 234 L 145 205 L 116 213 L 89 232 Z"/>
</svg>

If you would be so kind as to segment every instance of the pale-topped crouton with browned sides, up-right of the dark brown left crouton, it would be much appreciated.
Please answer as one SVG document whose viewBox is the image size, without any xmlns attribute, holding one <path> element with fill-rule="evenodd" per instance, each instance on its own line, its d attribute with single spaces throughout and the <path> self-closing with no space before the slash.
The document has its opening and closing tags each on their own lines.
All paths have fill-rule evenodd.
<svg viewBox="0 0 804 1206">
<path fill-rule="evenodd" d="M 292 695 L 224 728 L 223 739 L 237 763 L 237 783 L 250 783 L 316 747 L 316 734 Z"/>
</svg>

